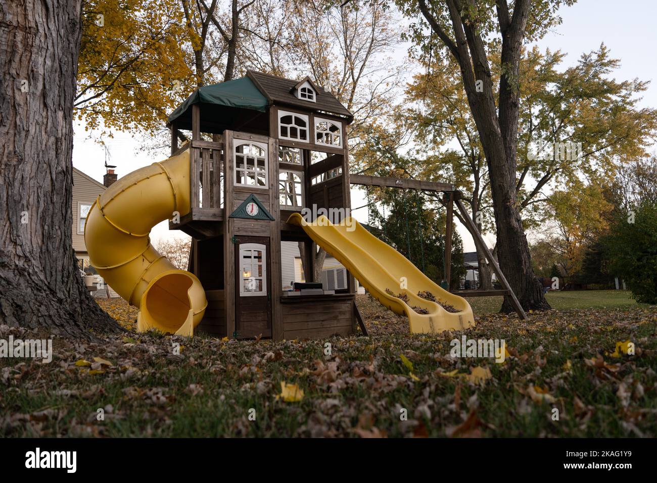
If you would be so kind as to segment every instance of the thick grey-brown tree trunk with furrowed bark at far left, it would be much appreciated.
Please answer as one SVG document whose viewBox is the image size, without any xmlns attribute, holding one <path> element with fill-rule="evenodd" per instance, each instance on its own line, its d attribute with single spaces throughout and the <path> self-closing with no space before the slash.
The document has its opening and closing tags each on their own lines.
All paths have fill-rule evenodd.
<svg viewBox="0 0 657 483">
<path fill-rule="evenodd" d="M 0 323 L 72 336 L 120 327 L 72 248 L 81 0 L 0 5 Z"/>
</svg>

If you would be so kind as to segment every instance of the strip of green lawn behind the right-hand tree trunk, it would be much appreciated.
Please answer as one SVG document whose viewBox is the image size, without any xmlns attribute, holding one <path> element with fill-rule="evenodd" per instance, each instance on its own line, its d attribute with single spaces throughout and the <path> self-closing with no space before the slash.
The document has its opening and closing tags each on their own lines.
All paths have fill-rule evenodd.
<svg viewBox="0 0 657 483">
<path fill-rule="evenodd" d="M 637 302 L 631 298 L 629 290 L 569 290 L 566 292 L 547 292 L 547 301 L 553 309 L 587 309 L 629 307 Z M 497 313 L 502 306 L 503 297 L 467 298 L 474 314 Z"/>
</svg>

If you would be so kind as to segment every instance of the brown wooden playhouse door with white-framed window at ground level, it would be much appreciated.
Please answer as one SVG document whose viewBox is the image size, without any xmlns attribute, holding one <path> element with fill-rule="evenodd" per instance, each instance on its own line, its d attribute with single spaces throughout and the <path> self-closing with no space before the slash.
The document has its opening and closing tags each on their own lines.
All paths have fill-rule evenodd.
<svg viewBox="0 0 657 483">
<path fill-rule="evenodd" d="M 235 237 L 235 331 L 271 337 L 269 238 Z"/>
</svg>

